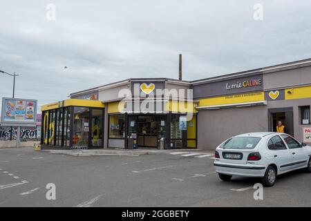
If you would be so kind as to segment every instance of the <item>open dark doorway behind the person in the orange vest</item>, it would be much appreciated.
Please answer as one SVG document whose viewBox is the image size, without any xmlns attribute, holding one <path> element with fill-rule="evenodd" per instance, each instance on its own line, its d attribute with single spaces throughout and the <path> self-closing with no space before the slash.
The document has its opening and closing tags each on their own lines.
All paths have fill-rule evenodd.
<svg viewBox="0 0 311 221">
<path fill-rule="evenodd" d="M 278 122 L 284 125 L 284 133 L 294 135 L 293 111 L 292 108 L 272 108 L 268 109 L 269 131 L 276 132 Z"/>
</svg>

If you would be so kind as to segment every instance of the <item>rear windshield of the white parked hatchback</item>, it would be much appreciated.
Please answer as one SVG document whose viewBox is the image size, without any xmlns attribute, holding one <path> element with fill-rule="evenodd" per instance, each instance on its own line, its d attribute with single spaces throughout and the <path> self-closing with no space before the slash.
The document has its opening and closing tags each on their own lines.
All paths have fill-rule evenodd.
<svg viewBox="0 0 311 221">
<path fill-rule="evenodd" d="M 261 137 L 232 137 L 220 147 L 226 149 L 253 149 L 261 140 Z"/>
</svg>

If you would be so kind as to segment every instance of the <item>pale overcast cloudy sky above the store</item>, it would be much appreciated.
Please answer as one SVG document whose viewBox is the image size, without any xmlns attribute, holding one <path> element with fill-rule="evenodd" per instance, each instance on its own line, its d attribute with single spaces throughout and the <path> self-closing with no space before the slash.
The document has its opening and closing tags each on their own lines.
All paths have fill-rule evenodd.
<svg viewBox="0 0 311 221">
<path fill-rule="evenodd" d="M 185 80 L 261 68 L 311 57 L 310 11 L 310 0 L 1 0 L 0 70 L 20 75 L 15 97 L 41 105 L 129 77 L 178 78 L 179 53 Z M 0 74 L 0 95 L 12 96 L 12 77 Z"/>
</svg>

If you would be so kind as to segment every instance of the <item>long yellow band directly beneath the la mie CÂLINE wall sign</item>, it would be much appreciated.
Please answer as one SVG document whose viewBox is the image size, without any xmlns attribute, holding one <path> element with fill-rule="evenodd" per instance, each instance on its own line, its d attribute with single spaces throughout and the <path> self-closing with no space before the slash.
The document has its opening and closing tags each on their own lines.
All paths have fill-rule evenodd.
<svg viewBox="0 0 311 221">
<path fill-rule="evenodd" d="M 247 102 L 260 102 L 265 100 L 265 93 L 254 92 L 246 94 L 237 95 L 227 95 L 222 97 L 209 97 L 199 99 L 198 106 L 212 106 L 212 105 L 222 105 L 222 104 L 241 104 Z"/>
</svg>

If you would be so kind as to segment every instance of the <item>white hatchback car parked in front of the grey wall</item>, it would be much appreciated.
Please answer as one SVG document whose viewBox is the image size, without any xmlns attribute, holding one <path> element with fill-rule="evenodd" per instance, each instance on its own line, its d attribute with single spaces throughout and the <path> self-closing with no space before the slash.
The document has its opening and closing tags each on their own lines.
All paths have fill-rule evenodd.
<svg viewBox="0 0 311 221">
<path fill-rule="evenodd" d="M 261 132 L 234 136 L 215 151 L 214 166 L 221 180 L 232 175 L 262 177 L 264 186 L 273 186 L 276 175 L 305 168 L 311 173 L 311 146 L 288 134 Z"/>
</svg>

